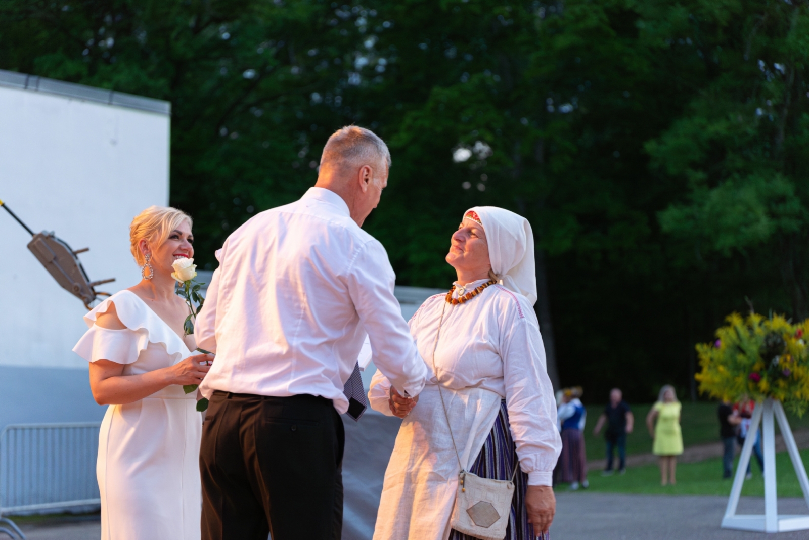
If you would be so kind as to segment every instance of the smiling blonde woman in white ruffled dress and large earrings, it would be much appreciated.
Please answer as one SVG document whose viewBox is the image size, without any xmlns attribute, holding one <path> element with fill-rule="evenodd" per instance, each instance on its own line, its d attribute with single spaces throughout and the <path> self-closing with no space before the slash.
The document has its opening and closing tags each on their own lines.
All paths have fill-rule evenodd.
<svg viewBox="0 0 809 540">
<path fill-rule="evenodd" d="M 142 281 L 84 316 L 90 329 L 74 352 L 90 362 L 96 403 L 109 405 L 96 466 L 102 540 L 199 540 L 201 416 L 196 393 L 212 355 L 184 336 L 188 306 L 175 293 L 172 263 L 193 259 L 191 217 L 151 206 L 132 221 L 131 250 Z"/>
</svg>

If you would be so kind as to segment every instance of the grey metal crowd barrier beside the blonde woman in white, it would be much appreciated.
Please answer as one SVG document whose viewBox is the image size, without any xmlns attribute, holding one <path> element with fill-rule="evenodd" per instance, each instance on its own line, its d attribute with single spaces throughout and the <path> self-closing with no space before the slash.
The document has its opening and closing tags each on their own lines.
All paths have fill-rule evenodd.
<svg viewBox="0 0 809 540">
<path fill-rule="evenodd" d="M 10 424 L 0 432 L 0 522 L 25 538 L 11 513 L 101 504 L 95 479 L 98 422 Z M 15 538 L 0 525 L 0 533 Z"/>
</svg>

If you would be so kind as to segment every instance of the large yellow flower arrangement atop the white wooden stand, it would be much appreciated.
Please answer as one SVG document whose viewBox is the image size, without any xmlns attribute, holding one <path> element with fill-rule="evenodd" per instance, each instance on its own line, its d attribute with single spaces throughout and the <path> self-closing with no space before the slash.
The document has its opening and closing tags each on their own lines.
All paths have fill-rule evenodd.
<svg viewBox="0 0 809 540">
<path fill-rule="evenodd" d="M 769 318 L 738 313 L 726 319 L 713 343 L 697 344 L 700 391 L 719 399 L 777 399 L 798 416 L 809 408 L 809 348 L 804 336 L 809 319 L 792 324 L 781 315 Z"/>
</svg>

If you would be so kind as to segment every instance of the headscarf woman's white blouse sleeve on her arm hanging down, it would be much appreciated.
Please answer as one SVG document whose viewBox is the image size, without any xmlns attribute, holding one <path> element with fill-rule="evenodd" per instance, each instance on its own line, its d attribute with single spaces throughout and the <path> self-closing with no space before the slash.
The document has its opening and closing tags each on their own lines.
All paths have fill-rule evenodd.
<svg viewBox="0 0 809 540">
<path fill-rule="evenodd" d="M 520 317 L 516 306 L 510 310 L 501 332 L 506 407 L 520 468 L 528 474 L 528 485 L 550 486 L 561 453 L 557 407 L 539 323 L 536 317 L 529 319 L 533 314 L 530 307 L 524 311 L 526 316 Z"/>
</svg>

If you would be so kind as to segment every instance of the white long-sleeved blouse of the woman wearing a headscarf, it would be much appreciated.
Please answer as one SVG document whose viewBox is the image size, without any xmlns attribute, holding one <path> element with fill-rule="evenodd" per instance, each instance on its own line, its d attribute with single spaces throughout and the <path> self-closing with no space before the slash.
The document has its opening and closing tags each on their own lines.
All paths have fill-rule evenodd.
<svg viewBox="0 0 809 540">
<path fill-rule="evenodd" d="M 470 291 L 485 281 L 475 281 L 465 289 Z M 460 292 L 456 290 L 455 296 Z M 511 434 L 520 468 L 528 474 L 528 484 L 550 486 L 561 452 L 561 438 L 553 386 L 533 307 L 525 297 L 502 285 L 490 286 L 469 302 L 455 306 L 447 304 L 444 294 L 428 298 L 409 322 L 410 333 L 430 372 L 427 386 L 436 384 L 433 346 L 445 304 L 435 351 L 435 365 L 443 387 L 480 388 L 506 399 Z M 371 407 L 392 416 L 388 408 L 389 388 L 388 380 L 377 371 L 368 397 Z M 421 402 L 416 408 L 420 406 Z M 491 427 L 486 428 L 485 435 Z M 480 441 L 481 447 L 483 441 L 485 437 Z M 480 449 L 471 449 L 472 461 Z"/>
</svg>

